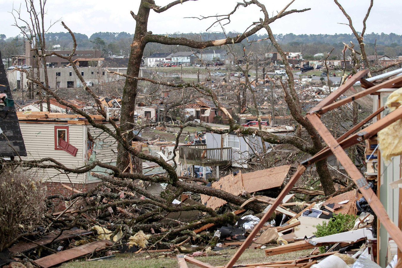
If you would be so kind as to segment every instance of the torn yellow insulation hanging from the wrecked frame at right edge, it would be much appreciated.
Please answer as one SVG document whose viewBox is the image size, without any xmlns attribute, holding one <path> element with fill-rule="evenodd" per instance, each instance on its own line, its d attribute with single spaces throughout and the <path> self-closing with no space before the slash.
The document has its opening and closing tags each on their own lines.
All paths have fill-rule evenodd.
<svg viewBox="0 0 402 268">
<path fill-rule="evenodd" d="M 388 96 L 385 104 L 390 111 L 395 110 L 396 106 L 391 106 L 392 102 L 399 102 L 402 104 L 402 88 L 395 90 Z M 399 106 L 402 108 L 401 106 Z M 379 148 L 381 149 L 381 158 L 384 161 L 389 161 L 393 156 L 402 155 L 402 121 L 392 123 L 388 127 L 378 131 Z"/>
</svg>

